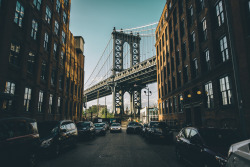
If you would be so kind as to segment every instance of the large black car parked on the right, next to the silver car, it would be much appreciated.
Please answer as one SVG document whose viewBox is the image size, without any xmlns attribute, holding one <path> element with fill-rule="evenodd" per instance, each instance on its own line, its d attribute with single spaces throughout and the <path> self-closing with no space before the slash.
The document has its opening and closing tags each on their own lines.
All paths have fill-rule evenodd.
<svg viewBox="0 0 250 167">
<path fill-rule="evenodd" d="M 197 167 L 222 167 L 231 144 L 240 141 L 237 131 L 218 128 L 183 128 L 176 136 L 176 157 Z"/>
</svg>

